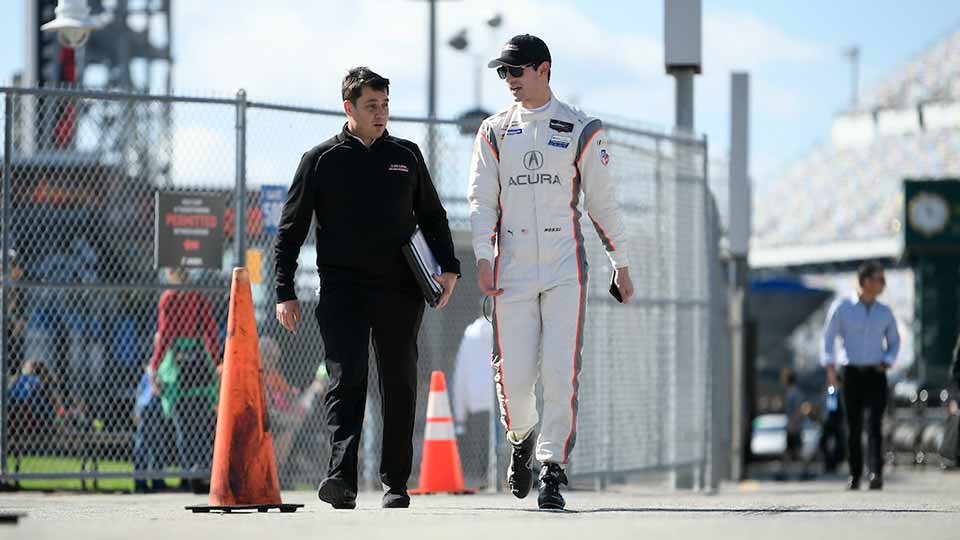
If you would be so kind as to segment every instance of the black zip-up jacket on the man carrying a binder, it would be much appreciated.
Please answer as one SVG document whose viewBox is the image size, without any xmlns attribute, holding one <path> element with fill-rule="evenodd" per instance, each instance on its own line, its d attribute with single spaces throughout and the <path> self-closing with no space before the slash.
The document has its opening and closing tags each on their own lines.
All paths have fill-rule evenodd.
<svg viewBox="0 0 960 540">
<path fill-rule="evenodd" d="M 447 213 L 420 148 L 386 131 L 369 147 L 343 131 L 303 155 L 275 247 L 277 302 L 296 299 L 297 256 L 311 217 L 320 282 L 416 287 L 400 252 L 419 225 L 443 272 L 460 274 Z"/>
</svg>

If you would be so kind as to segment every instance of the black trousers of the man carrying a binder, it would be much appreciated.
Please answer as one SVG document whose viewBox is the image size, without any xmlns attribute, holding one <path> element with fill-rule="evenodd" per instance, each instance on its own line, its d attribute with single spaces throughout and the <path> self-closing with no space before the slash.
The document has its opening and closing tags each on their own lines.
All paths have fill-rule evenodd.
<svg viewBox="0 0 960 540">
<path fill-rule="evenodd" d="M 405 488 L 410 477 L 417 334 L 424 310 L 423 295 L 413 287 L 324 283 L 320 289 L 316 316 L 330 377 L 324 398 L 331 442 L 327 477 L 344 480 L 354 490 L 371 335 L 382 397 L 380 479 L 392 488 Z"/>
</svg>

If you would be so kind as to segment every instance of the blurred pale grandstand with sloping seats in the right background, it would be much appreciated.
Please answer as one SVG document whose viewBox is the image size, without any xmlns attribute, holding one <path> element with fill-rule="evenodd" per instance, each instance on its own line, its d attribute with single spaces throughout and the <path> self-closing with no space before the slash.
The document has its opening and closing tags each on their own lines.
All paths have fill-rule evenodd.
<svg viewBox="0 0 960 540">
<path fill-rule="evenodd" d="M 752 267 L 899 257 L 902 180 L 960 174 L 960 29 L 838 115 L 832 135 L 760 186 Z"/>
</svg>

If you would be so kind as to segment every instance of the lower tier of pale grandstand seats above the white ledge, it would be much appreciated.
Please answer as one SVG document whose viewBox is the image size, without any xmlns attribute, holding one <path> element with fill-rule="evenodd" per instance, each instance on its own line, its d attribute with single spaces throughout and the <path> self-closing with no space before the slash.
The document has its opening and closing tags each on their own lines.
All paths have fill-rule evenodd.
<svg viewBox="0 0 960 540">
<path fill-rule="evenodd" d="M 822 145 L 758 193 L 753 246 L 896 237 L 905 178 L 960 177 L 960 129 L 881 136 L 861 147 Z"/>
</svg>

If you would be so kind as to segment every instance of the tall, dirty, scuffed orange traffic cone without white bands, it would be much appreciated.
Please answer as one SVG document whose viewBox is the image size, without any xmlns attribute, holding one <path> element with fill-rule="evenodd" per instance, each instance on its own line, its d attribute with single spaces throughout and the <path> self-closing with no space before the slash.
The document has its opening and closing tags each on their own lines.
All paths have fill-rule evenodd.
<svg viewBox="0 0 960 540">
<path fill-rule="evenodd" d="M 280 502 L 250 276 L 246 268 L 234 268 L 210 474 L 210 505 L 186 508 L 193 512 L 266 512 L 271 508 L 295 512 L 301 506 Z"/>
</svg>

